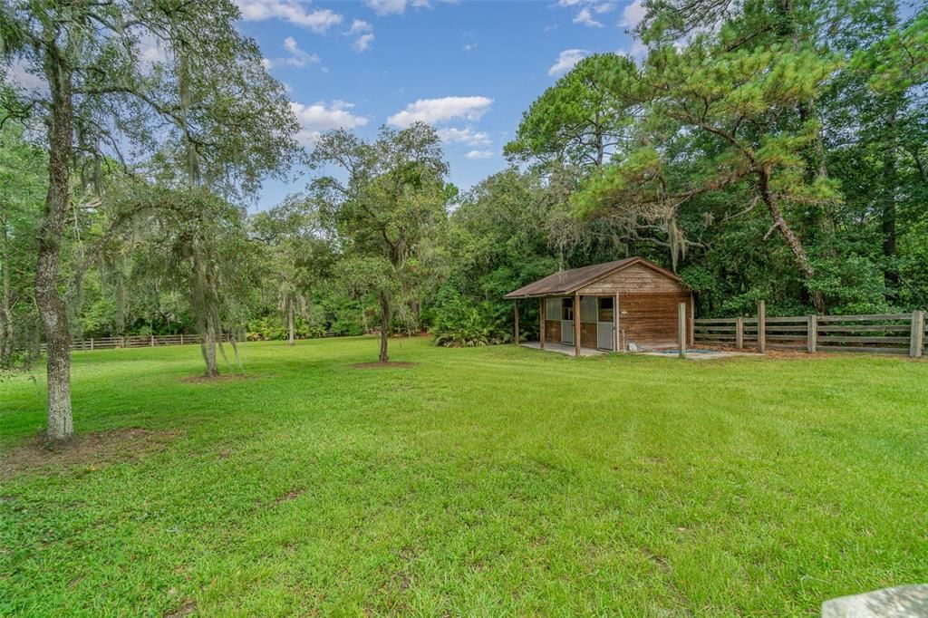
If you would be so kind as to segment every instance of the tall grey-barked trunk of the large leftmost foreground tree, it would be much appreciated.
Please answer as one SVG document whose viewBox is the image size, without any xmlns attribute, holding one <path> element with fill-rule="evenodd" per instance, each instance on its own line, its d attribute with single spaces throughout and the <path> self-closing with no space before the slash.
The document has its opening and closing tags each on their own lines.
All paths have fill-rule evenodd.
<svg viewBox="0 0 928 618">
<path fill-rule="evenodd" d="M 49 43 L 45 53 L 45 77 L 51 92 L 48 128 L 48 192 L 38 234 L 35 268 L 35 304 L 45 329 L 48 379 L 48 437 L 67 440 L 74 432 L 71 418 L 71 333 L 68 314 L 58 293 L 58 257 L 65 214 L 71 201 L 69 163 L 73 139 L 71 71 Z"/>
</svg>

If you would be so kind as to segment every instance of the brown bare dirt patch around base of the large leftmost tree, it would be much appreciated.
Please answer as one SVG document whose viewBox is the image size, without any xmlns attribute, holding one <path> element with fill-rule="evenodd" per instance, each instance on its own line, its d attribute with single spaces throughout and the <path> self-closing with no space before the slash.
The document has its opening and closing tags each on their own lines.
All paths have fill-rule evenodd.
<svg viewBox="0 0 928 618">
<path fill-rule="evenodd" d="M 74 466 L 97 470 L 116 461 L 134 461 L 164 450 L 177 435 L 178 431 L 128 428 L 75 435 L 63 444 L 50 443 L 44 435 L 36 436 L 32 442 L 6 449 L 0 456 L 0 479 L 22 472 L 52 472 Z"/>
</svg>

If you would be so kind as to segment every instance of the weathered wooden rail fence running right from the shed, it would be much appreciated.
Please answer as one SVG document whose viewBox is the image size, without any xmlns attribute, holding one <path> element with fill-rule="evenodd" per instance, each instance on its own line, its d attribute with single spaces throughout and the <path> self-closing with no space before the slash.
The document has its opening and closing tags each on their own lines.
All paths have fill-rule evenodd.
<svg viewBox="0 0 928 618">
<path fill-rule="evenodd" d="M 870 354 L 908 354 L 913 358 L 928 354 L 925 341 L 925 312 L 874 315 L 797 315 L 767 317 L 714 317 L 693 321 L 695 341 L 775 350 L 815 352 L 864 352 Z"/>
</svg>

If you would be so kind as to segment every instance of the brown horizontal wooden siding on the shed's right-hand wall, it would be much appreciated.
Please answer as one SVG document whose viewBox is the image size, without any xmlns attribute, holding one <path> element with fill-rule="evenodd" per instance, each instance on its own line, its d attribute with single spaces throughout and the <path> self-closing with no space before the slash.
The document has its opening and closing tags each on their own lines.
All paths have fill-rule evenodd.
<svg viewBox="0 0 928 618">
<path fill-rule="evenodd" d="M 646 348 L 678 347 L 678 303 L 687 303 L 687 320 L 691 321 L 689 291 L 620 293 L 619 328 L 623 344 L 634 342 Z"/>
</svg>

